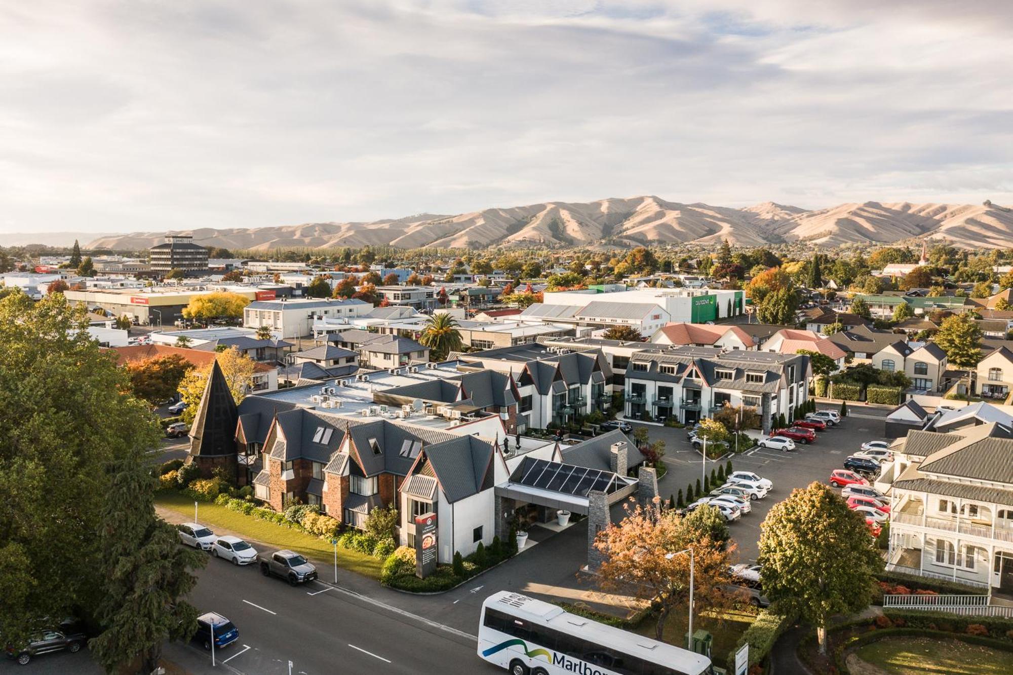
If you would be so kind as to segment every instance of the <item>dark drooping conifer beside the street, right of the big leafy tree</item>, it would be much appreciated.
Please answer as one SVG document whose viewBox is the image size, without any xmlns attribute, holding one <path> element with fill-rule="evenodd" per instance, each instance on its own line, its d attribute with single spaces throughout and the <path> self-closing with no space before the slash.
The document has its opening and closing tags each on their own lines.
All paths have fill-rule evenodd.
<svg viewBox="0 0 1013 675">
<path fill-rule="evenodd" d="M 89 644 L 107 672 L 140 656 L 141 671 L 152 673 L 166 640 L 186 641 L 197 629 L 197 608 L 183 597 L 197 585 L 191 571 L 208 557 L 180 546 L 176 529 L 155 516 L 155 482 L 134 453 L 113 465 L 104 496 L 98 527 L 103 592 L 95 612 L 104 630 Z"/>
</svg>

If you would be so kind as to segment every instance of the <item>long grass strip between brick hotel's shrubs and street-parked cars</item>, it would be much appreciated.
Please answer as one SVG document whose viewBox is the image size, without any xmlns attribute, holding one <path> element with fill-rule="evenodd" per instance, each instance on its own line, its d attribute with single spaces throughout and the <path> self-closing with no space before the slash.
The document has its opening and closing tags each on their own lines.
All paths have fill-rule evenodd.
<svg viewBox="0 0 1013 675">
<path fill-rule="evenodd" d="M 155 504 L 182 514 L 187 519 L 193 517 L 193 501 L 182 495 L 159 493 L 155 497 Z M 334 562 L 334 547 L 319 537 L 264 520 L 257 520 L 252 516 L 231 511 L 217 504 L 202 502 L 198 514 L 200 522 L 205 525 L 222 527 L 236 532 L 244 538 L 263 542 L 276 548 L 288 548 L 326 566 L 332 566 Z M 340 546 L 337 548 L 337 567 L 344 570 L 379 580 L 383 560 L 372 555 Z M 320 576 L 324 579 L 327 578 L 325 571 L 322 571 Z"/>
</svg>

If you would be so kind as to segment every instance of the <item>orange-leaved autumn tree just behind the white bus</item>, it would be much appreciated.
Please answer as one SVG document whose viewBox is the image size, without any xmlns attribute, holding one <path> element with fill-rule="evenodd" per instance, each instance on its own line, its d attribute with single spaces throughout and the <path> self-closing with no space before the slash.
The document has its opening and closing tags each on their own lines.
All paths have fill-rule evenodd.
<svg viewBox="0 0 1013 675">
<path fill-rule="evenodd" d="M 609 524 L 595 538 L 595 547 L 605 556 L 598 583 L 605 591 L 621 590 L 649 601 L 657 611 L 658 641 L 665 636 L 672 610 L 689 602 L 690 555 L 681 551 L 693 550 L 697 613 L 730 604 L 730 596 L 722 590 L 729 582 L 730 549 L 700 537 L 684 519 L 664 509 L 660 500 L 647 508 L 623 508 L 623 520 Z"/>
</svg>

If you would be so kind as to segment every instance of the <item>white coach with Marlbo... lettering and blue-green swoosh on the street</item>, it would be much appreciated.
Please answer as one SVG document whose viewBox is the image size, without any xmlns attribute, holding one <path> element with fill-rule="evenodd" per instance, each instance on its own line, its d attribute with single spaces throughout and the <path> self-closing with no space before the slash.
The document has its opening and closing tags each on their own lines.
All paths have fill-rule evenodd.
<svg viewBox="0 0 1013 675">
<path fill-rule="evenodd" d="M 712 675 L 710 659 L 500 591 L 482 603 L 478 656 L 511 675 Z"/>
</svg>

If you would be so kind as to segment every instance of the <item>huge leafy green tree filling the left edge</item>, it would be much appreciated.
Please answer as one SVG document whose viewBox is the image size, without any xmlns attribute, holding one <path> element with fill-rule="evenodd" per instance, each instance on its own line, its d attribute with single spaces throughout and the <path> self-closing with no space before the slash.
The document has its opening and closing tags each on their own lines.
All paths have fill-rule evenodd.
<svg viewBox="0 0 1013 675">
<path fill-rule="evenodd" d="M 97 531 L 107 467 L 158 446 L 148 406 L 61 294 L 0 300 L 0 634 L 94 607 L 109 560 Z M 123 504 L 120 505 L 123 508 Z"/>
</svg>

